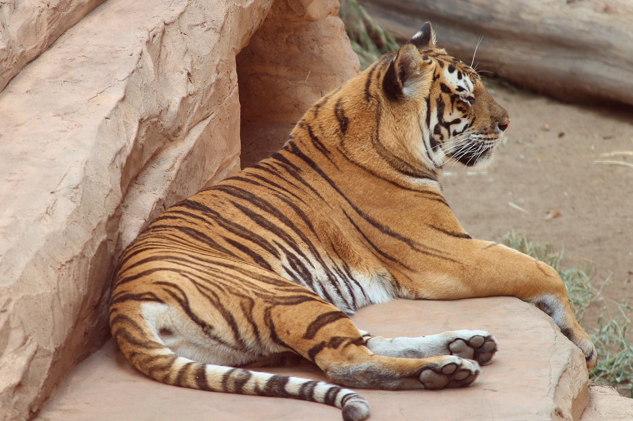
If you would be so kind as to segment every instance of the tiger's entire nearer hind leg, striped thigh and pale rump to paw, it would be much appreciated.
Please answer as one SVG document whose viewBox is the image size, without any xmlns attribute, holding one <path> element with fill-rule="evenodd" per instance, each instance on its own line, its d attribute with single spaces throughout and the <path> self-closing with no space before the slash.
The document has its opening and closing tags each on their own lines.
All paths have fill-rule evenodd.
<svg viewBox="0 0 633 421">
<path fill-rule="evenodd" d="M 221 269 L 228 280 L 192 282 L 170 273 L 160 281 L 161 295 L 156 293 L 161 302 L 134 303 L 163 343 L 183 357 L 249 365 L 291 351 L 318 365 L 333 382 L 374 389 L 467 386 L 479 375 L 477 362 L 455 355 L 376 355 L 348 315 L 308 288 L 256 267 L 241 265 L 239 273 Z M 224 286 L 222 294 L 217 284 Z M 302 393 L 295 392 L 292 396 Z"/>
</svg>

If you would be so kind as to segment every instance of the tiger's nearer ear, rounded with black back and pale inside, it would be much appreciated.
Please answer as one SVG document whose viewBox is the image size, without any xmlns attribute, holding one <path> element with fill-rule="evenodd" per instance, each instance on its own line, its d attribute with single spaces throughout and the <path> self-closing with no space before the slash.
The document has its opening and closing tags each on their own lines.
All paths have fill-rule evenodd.
<svg viewBox="0 0 633 421">
<path fill-rule="evenodd" d="M 427 64 L 413 44 L 404 44 L 389 64 L 382 80 L 382 90 L 391 101 L 411 97 L 423 88 Z"/>
</svg>

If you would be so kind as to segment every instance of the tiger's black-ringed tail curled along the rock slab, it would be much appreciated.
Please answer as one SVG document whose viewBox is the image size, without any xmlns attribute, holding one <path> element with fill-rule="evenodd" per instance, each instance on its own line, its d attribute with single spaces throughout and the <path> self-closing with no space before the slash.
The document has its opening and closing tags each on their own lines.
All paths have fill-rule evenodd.
<svg viewBox="0 0 633 421">
<path fill-rule="evenodd" d="M 123 354 L 135 369 L 160 382 L 214 392 L 325 403 L 341 408 L 345 421 L 360 421 L 369 416 L 367 400 L 334 384 L 205 364 L 180 357 L 165 346 L 143 317 L 133 320 L 111 308 L 110 326 Z"/>
</svg>

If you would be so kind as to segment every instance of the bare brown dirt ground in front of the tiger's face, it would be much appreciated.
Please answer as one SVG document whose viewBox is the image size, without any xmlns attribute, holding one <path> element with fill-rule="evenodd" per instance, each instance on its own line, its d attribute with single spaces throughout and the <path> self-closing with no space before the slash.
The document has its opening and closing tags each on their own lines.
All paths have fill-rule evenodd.
<svg viewBox="0 0 633 421">
<path fill-rule="evenodd" d="M 505 88 L 493 96 L 511 118 L 495 159 L 486 169 L 455 166 L 443 176 L 461 224 L 487 240 L 514 229 L 549 243 L 564 250 L 565 267 L 592 262 L 594 285 L 609 279 L 608 301 L 633 303 L 633 110 Z M 611 152 L 625 153 L 601 155 Z M 587 324 L 595 317 L 594 308 Z"/>
</svg>

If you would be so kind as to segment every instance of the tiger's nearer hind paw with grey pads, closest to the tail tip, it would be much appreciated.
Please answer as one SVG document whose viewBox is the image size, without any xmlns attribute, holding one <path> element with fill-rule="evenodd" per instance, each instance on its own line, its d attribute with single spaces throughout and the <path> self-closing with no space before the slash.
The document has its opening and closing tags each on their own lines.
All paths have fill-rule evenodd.
<svg viewBox="0 0 633 421">
<path fill-rule="evenodd" d="M 441 359 L 442 362 L 429 365 L 420 372 L 420 383 L 424 389 L 470 386 L 480 373 L 476 361 L 453 355 Z"/>
</svg>

